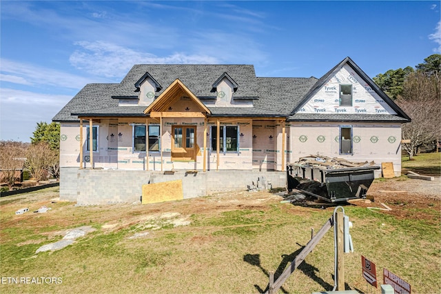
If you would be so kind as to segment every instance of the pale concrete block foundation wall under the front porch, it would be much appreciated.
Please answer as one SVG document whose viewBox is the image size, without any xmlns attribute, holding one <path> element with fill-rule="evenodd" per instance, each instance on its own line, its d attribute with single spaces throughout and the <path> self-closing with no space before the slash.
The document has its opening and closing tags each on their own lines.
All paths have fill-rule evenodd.
<svg viewBox="0 0 441 294">
<path fill-rule="evenodd" d="M 77 204 L 114 204 L 141 201 L 145 184 L 181 179 L 184 199 L 247 186 L 279 188 L 286 186 L 286 172 L 257 170 L 209 170 L 207 172 L 158 172 L 148 170 L 112 170 L 61 168 L 60 199 Z"/>
</svg>

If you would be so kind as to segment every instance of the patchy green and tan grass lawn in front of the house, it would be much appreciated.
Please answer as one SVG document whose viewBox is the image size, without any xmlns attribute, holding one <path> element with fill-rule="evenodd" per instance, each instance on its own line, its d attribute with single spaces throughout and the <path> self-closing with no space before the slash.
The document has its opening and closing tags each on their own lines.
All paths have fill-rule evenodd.
<svg viewBox="0 0 441 294">
<path fill-rule="evenodd" d="M 334 211 L 280 203 L 267 192 L 109 206 L 74 206 L 55 197 L 57 188 L 0 199 L 1 293 L 262 293 L 269 271 L 280 275 L 311 228 L 317 232 Z M 52 210 L 32 212 L 41 205 Z M 14 214 L 24 207 L 30 212 Z M 345 255 L 347 288 L 380 293 L 362 278 L 364 255 L 376 264 L 379 280 L 387 268 L 409 282 L 412 293 L 440 293 L 438 205 L 419 212 L 433 215 L 430 222 L 358 206 L 345 206 L 345 213 L 355 248 Z M 35 253 L 79 226 L 96 231 L 59 251 Z M 329 231 L 280 293 L 330 291 L 333 275 Z M 8 277 L 57 282 L 14 284 Z"/>
</svg>

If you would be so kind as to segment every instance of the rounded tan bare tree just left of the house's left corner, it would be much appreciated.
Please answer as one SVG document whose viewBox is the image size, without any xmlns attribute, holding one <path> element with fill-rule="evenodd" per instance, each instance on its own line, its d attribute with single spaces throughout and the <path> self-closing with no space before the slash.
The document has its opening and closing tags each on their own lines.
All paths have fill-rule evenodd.
<svg viewBox="0 0 441 294">
<path fill-rule="evenodd" d="M 26 166 L 37 182 L 48 179 L 50 167 L 54 164 L 58 164 L 58 154 L 50 149 L 48 142 L 32 144 L 28 148 Z"/>
</svg>

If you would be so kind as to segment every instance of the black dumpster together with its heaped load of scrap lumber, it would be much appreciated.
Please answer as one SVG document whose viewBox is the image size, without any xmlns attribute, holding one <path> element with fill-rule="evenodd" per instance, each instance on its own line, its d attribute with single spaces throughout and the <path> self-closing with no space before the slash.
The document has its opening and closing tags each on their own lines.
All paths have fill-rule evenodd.
<svg viewBox="0 0 441 294">
<path fill-rule="evenodd" d="M 329 157 L 302 157 L 287 166 L 287 188 L 327 202 L 365 198 L 374 179 L 374 170 L 378 169 L 380 166 L 373 162 L 351 163 Z"/>
</svg>

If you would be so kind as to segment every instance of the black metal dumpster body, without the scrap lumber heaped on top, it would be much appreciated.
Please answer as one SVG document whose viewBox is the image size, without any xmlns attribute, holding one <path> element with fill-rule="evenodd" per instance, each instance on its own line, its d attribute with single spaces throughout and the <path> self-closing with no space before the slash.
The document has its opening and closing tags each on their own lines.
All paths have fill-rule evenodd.
<svg viewBox="0 0 441 294">
<path fill-rule="evenodd" d="M 328 202 L 365 198 L 373 182 L 374 170 L 380 166 L 326 169 L 311 166 L 288 166 L 287 188 Z"/>
</svg>

